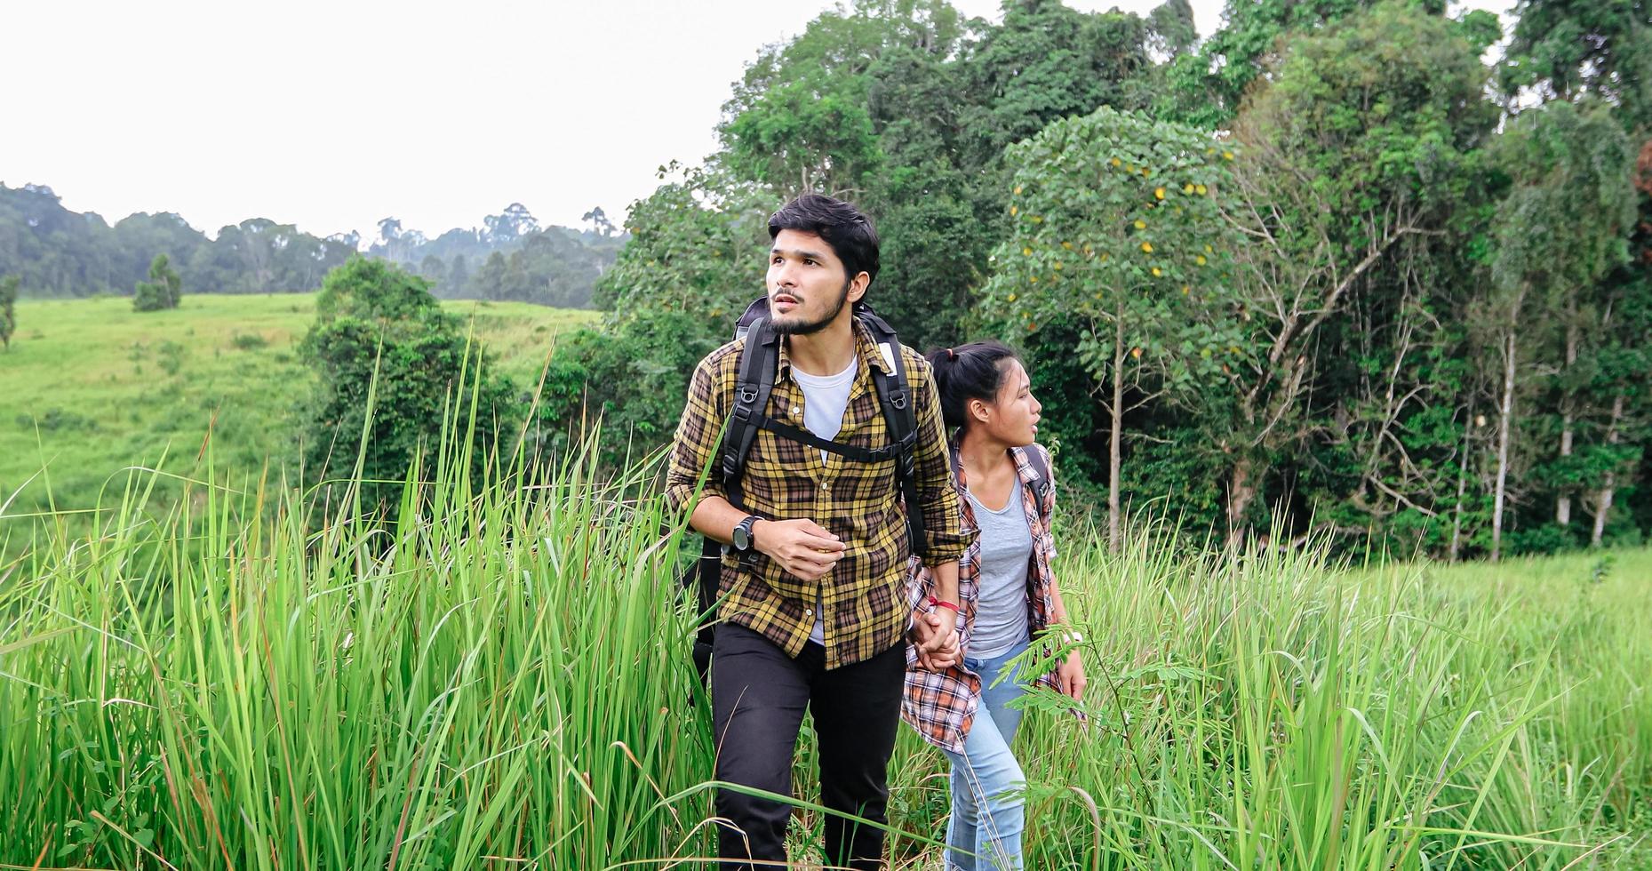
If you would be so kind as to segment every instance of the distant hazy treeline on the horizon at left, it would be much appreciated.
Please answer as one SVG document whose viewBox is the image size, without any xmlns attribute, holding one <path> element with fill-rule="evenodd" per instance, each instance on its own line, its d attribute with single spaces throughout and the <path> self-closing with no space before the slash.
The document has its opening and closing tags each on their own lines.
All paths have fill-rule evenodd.
<svg viewBox="0 0 1652 871">
<path fill-rule="evenodd" d="M 378 221 L 370 256 L 418 271 L 441 297 L 509 299 L 586 307 L 624 236 L 601 208 L 590 228 L 540 226 L 520 203 L 489 215 L 482 228 L 436 238 Z M 216 238 L 182 217 L 137 213 L 112 226 L 94 212 L 71 212 L 45 185 L 0 183 L 0 274 L 15 274 L 28 297 L 131 294 L 155 255 L 167 255 L 185 293 L 314 291 L 329 269 L 362 250 L 358 233 L 314 236 L 291 223 L 248 218 Z"/>
</svg>

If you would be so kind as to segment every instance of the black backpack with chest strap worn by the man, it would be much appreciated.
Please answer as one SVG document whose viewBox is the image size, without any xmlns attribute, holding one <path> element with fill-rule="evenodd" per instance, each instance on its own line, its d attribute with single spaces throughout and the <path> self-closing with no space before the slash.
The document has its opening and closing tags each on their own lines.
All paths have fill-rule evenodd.
<svg viewBox="0 0 1652 871">
<path fill-rule="evenodd" d="M 912 408 L 912 392 L 907 388 L 907 369 L 900 357 L 900 342 L 895 331 L 889 327 L 877 312 L 866 302 L 854 304 L 856 321 L 866 324 L 872 334 L 872 342 L 884 350 L 884 359 L 890 360 L 894 372 L 872 370 L 872 383 L 877 388 L 877 402 L 884 410 L 889 425 L 889 443 L 881 448 L 852 448 L 816 436 L 814 433 L 775 420 L 765 412 L 768 395 L 775 387 L 775 374 L 780 369 L 780 334 L 775 332 L 768 317 L 768 297 L 752 302 L 735 326 L 735 339 L 745 339 L 740 352 L 740 380 L 735 383 L 735 403 L 729 413 L 729 428 L 724 431 L 722 448 L 710 469 L 715 481 L 720 481 L 729 504 L 740 511 L 750 511 L 740 493 L 740 478 L 745 474 L 745 458 L 752 451 L 758 430 L 768 430 L 781 438 L 800 441 L 816 450 L 829 451 L 857 463 L 895 461 L 895 481 L 907 507 L 907 537 L 914 554 L 925 554 L 928 539 L 923 531 L 923 512 L 919 507 L 917 476 L 914 474 L 912 453 L 917 445 L 917 413 Z M 694 664 L 705 679 L 712 656 L 712 623 L 715 621 L 717 592 L 722 578 L 722 555 L 725 547 L 705 537 L 700 545 L 700 559 L 694 569 L 684 575 L 684 585 L 695 588 L 700 628 L 694 640 Z M 747 562 L 755 554 L 747 555 Z"/>
</svg>

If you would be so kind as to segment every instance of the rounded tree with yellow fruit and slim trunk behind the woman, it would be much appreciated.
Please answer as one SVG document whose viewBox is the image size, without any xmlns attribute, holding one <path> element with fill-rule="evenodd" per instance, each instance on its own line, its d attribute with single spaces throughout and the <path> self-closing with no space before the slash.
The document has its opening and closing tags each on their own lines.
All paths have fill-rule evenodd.
<svg viewBox="0 0 1652 871">
<path fill-rule="evenodd" d="M 1219 382 L 1237 337 L 1226 311 L 1226 223 L 1211 192 L 1226 160 L 1209 134 L 1108 107 L 1013 145 L 1011 235 L 993 259 L 983 312 L 1028 334 L 1069 321 L 1075 354 L 1110 420 L 1107 529 L 1122 544 L 1125 415 Z M 1029 336 L 1029 342 L 1032 337 Z"/>
</svg>

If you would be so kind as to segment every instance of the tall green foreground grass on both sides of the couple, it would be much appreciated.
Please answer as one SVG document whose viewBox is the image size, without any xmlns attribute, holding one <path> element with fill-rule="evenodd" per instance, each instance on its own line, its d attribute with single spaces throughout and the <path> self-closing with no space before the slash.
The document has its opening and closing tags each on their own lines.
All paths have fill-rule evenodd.
<svg viewBox="0 0 1652 871">
<path fill-rule="evenodd" d="M 94 532 L 0 567 L 0 866 L 702 856 L 714 749 L 654 466 L 469 468 L 436 453 L 375 516 L 208 463 L 159 521 L 134 471 Z M 1062 535 L 1090 691 L 1084 722 L 1026 719 L 1029 868 L 1652 868 L 1652 554 L 1348 570 L 1170 540 Z M 813 764 L 805 734 L 805 859 Z M 937 838 L 940 754 L 904 729 L 890 778 L 892 825 Z"/>
</svg>

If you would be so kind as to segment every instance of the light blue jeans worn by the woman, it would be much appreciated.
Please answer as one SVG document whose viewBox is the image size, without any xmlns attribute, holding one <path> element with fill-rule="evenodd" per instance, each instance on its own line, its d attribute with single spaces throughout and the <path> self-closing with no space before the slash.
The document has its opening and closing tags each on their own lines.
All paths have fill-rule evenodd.
<svg viewBox="0 0 1652 871">
<path fill-rule="evenodd" d="M 960 871 L 1021 871 L 1021 830 L 1026 828 L 1026 777 L 1009 745 L 1021 726 L 1021 711 L 1009 701 L 1026 693 L 1019 674 L 993 681 L 1021 656 L 1028 641 L 991 659 L 963 658 L 965 668 L 981 676 L 981 701 L 975 722 L 963 739 L 963 754 L 952 760 L 952 820 L 947 823 L 947 868 Z M 976 859 L 968 853 L 981 858 Z"/>
</svg>

